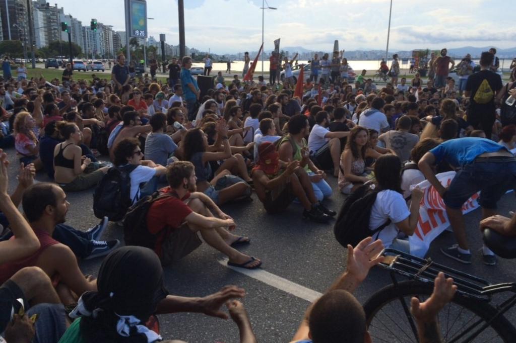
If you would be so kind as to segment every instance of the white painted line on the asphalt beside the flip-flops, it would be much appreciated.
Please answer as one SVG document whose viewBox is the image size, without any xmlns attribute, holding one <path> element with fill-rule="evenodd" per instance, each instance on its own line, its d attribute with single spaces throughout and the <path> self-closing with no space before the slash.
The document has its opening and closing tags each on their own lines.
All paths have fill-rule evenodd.
<svg viewBox="0 0 516 343">
<path fill-rule="evenodd" d="M 318 291 L 301 286 L 300 284 L 289 281 L 260 268 L 245 269 L 228 266 L 228 258 L 220 259 L 218 260 L 218 262 L 225 267 L 233 269 L 234 271 L 238 271 L 239 273 L 247 275 L 250 278 L 261 281 L 269 286 L 278 288 L 288 294 L 292 294 L 293 296 L 296 296 L 309 302 L 314 302 L 315 300 L 320 298 L 320 296 L 322 296 L 322 294 Z"/>
</svg>

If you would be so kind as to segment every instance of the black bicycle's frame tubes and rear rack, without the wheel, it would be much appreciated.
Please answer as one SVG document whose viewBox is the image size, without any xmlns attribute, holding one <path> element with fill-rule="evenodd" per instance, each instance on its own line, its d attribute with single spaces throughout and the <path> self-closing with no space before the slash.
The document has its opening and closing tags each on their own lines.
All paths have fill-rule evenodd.
<svg viewBox="0 0 516 343">
<path fill-rule="evenodd" d="M 381 252 L 385 256 L 385 261 L 380 264 L 384 269 L 390 270 L 390 276 L 394 286 L 398 285 L 396 274 L 408 277 L 409 279 L 421 281 L 424 283 L 433 283 L 439 272 L 444 272 L 446 278 L 453 278 L 454 284 L 457 285 L 457 292 L 464 297 L 470 297 L 473 301 L 485 301 L 490 302 L 491 296 L 496 293 L 503 293 L 510 291 L 513 293 L 511 297 L 506 299 L 501 304 L 495 305 L 494 307 L 498 312 L 489 321 L 483 322 L 482 319 L 471 323 L 462 330 L 462 334 L 455 337 L 450 342 L 456 342 L 458 339 L 466 336 L 465 341 L 471 341 L 477 337 L 483 330 L 490 326 L 491 322 L 503 316 L 512 306 L 516 304 L 516 283 L 500 283 L 491 284 L 488 280 L 478 278 L 468 273 L 438 264 L 433 262 L 430 258 L 421 259 L 408 253 L 395 250 L 395 249 L 384 249 Z M 400 303 L 407 319 L 410 323 L 410 327 L 417 337 L 416 324 L 410 314 L 409 305 L 403 297 L 399 297 Z M 477 325 L 479 325 L 477 327 Z M 516 331 L 516 329 L 512 328 Z M 416 338 L 417 339 L 417 338 Z"/>
</svg>

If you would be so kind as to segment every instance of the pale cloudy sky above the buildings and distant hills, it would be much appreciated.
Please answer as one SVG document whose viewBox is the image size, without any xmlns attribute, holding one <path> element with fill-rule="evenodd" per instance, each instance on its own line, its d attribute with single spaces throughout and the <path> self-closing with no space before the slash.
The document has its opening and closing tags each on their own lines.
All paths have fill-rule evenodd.
<svg viewBox="0 0 516 343">
<path fill-rule="evenodd" d="M 92 18 L 124 31 L 122 0 L 54 0 L 83 25 Z M 184 0 L 188 47 L 217 54 L 257 50 L 262 42 L 262 0 Z M 281 37 L 282 46 L 331 50 L 385 49 L 389 0 L 268 0 L 265 50 Z M 516 46 L 514 0 L 393 0 L 389 50 Z M 149 0 L 150 36 L 165 33 L 179 44 L 176 0 Z"/>
</svg>

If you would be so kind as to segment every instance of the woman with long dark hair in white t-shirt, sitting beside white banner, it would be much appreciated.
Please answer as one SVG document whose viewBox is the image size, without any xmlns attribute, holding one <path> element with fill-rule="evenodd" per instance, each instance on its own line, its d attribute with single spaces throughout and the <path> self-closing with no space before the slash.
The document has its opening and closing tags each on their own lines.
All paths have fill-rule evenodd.
<svg viewBox="0 0 516 343">
<path fill-rule="evenodd" d="M 420 201 L 423 198 L 423 191 L 419 187 L 412 190 L 412 202 L 410 209 L 403 198 L 401 191 L 401 161 L 396 155 L 382 155 L 375 163 L 376 196 L 375 203 L 371 209 L 369 218 L 369 230 L 374 231 L 386 221 L 391 223 L 373 235 L 373 239 L 380 239 L 385 248 L 410 252 L 409 242 L 399 239 L 401 231 L 411 236 L 417 226 L 419 217 Z"/>
</svg>

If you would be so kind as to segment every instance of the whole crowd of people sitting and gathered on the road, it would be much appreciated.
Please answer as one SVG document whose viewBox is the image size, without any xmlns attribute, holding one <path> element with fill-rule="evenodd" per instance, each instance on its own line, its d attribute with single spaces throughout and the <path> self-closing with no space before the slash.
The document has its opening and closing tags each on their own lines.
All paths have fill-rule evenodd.
<svg viewBox="0 0 516 343">
<path fill-rule="evenodd" d="M 226 304 L 240 341 L 255 342 L 247 312 L 236 300 L 244 289 L 173 296 L 162 265 L 177 263 L 204 241 L 227 256 L 230 266 L 260 268 L 260 258 L 238 250 L 251 238 L 235 233 L 224 204 L 245 208 L 255 192 L 267 215 L 281 216 L 299 203 L 303 218 L 329 225 L 338 209 L 328 208 L 326 199 L 351 199 L 367 187 L 376 192 L 364 234 L 372 237 L 346 247 L 347 271 L 309 307 L 293 340 L 370 341 L 352 292 L 382 261 L 384 247 L 410 253 L 407 237 L 423 197 L 419 183 L 428 180 L 443 198 L 457 240 L 442 249 L 449 258 L 471 263 L 461 208 L 478 191 L 481 227 L 516 232 L 514 217 L 496 215 L 496 203 L 516 185 L 510 151 L 516 110 L 506 103 L 516 97 L 516 85 L 503 84 L 492 71 L 494 54 L 485 52 L 479 72 L 464 68 L 459 95 L 443 50 L 432 62 L 434 75 L 426 83 L 417 75 L 411 86 L 405 78 L 397 84 L 396 67 L 390 71 L 393 83 L 382 87 L 365 78 L 349 84 L 341 67 L 347 65 L 344 52 L 335 52 L 333 60 L 328 54 L 314 59 L 324 66 L 320 80 L 308 76 L 296 89 L 291 79 L 278 89 L 275 81 L 243 82 L 236 76 L 201 92 L 188 56 L 172 60 L 166 83 L 131 77 L 123 55 L 111 80 L 75 80 L 71 71 L 62 80 L 4 78 L 0 333 L 9 343 L 154 342 L 162 339 L 155 315 L 228 318 L 220 310 Z M 284 63 L 288 68 L 292 61 Z M 8 163 L 19 165 L 11 195 Z M 443 186 L 436 174 L 450 170 L 457 173 Z M 34 182 L 37 173 L 42 182 Z M 93 210 L 100 223 L 66 225 L 73 206 L 67 194 L 89 188 L 95 188 Z M 102 241 L 109 221 L 124 227 L 125 247 L 117 239 Z M 481 253 L 485 264 L 496 264 L 487 246 Z M 98 278 L 82 274 L 78 260 L 106 255 Z M 425 303 L 412 300 L 421 342 L 439 341 L 428 337 L 438 337 L 435 317 L 455 290 L 453 280 L 439 275 Z"/>
</svg>

